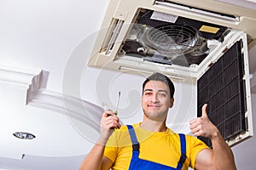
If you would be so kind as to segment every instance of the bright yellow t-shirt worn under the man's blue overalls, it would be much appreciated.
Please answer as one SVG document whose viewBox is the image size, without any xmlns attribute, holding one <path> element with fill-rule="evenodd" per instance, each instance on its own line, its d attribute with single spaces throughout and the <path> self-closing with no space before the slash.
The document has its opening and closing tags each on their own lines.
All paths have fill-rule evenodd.
<svg viewBox="0 0 256 170">
<path fill-rule="evenodd" d="M 181 156 L 180 139 L 177 133 L 167 128 L 166 132 L 151 132 L 139 126 L 140 123 L 132 125 L 137 140 L 140 144 L 139 158 L 154 161 L 169 167 L 177 167 Z M 186 135 L 186 156 L 183 169 L 195 168 L 197 154 L 208 148 L 201 140 Z M 132 147 L 131 137 L 126 126 L 115 130 L 108 139 L 104 156 L 113 161 L 112 169 L 129 169 Z"/>
</svg>

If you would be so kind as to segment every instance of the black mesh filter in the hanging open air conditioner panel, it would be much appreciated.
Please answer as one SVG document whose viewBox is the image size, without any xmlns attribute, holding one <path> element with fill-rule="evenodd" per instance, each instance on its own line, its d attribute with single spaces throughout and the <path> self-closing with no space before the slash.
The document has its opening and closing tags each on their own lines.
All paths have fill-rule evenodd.
<svg viewBox="0 0 256 170">
<path fill-rule="evenodd" d="M 225 140 L 232 139 L 247 129 L 241 44 L 236 42 L 197 83 L 197 116 L 201 116 L 201 107 L 207 103 L 208 117 Z M 212 146 L 210 139 L 199 139 Z"/>
</svg>

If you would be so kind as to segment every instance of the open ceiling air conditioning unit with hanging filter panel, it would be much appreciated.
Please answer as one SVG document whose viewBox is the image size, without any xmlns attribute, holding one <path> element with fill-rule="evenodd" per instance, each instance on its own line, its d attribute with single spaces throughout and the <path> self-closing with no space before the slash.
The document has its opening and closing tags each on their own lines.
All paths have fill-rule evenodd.
<svg viewBox="0 0 256 170">
<path fill-rule="evenodd" d="M 211 121 L 233 145 L 253 135 L 247 44 L 255 37 L 253 9 L 212 0 L 111 0 L 88 65 L 195 79 L 198 116 L 208 103 Z"/>
</svg>

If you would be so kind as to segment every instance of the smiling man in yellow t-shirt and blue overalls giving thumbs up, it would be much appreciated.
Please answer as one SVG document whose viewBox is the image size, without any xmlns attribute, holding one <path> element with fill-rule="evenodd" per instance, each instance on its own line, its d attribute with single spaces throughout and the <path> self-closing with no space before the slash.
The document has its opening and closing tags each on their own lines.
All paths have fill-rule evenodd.
<svg viewBox="0 0 256 170">
<path fill-rule="evenodd" d="M 121 127 L 119 118 L 112 111 L 105 111 L 100 139 L 85 157 L 80 170 L 236 169 L 230 147 L 207 117 L 207 105 L 202 107 L 201 117 L 189 122 L 189 128 L 195 136 L 211 139 L 212 149 L 195 137 L 173 133 L 166 127 L 173 94 L 171 80 L 154 73 L 143 82 L 143 122 Z"/>
</svg>

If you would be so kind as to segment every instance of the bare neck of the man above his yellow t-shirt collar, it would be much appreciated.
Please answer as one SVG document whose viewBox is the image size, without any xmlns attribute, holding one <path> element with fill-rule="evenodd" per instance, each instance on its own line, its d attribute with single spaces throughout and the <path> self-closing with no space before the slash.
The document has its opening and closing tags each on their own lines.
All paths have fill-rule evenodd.
<svg viewBox="0 0 256 170">
<path fill-rule="evenodd" d="M 152 131 L 152 132 L 166 132 L 166 121 L 157 122 L 150 120 L 148 118 L 144 118 L 142 124 L 140 125 L 143 129 Z"/>
</svg>

